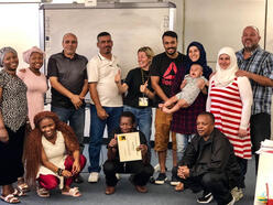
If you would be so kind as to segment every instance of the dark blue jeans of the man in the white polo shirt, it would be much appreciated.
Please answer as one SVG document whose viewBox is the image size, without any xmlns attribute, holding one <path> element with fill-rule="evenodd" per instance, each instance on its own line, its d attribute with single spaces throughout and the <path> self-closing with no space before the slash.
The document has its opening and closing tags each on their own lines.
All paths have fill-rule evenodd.
<svg viewBox="0 0 273 205">
<path fill-rule="evenodd" d="M 122 114 L 123 107 L 103 107 L 109 117 L 106 120 L 101 120 L 97 115 L 97 109 L 94 105 L 90 105 L 90 142 L 89 142 L 89 172 L 100 172 L 99 155 L 102 144 L 102 138 L 105 128 L 107 125 L 108 136 L 113 129 L 119 127 L 119 118 Z"/>
</svg>

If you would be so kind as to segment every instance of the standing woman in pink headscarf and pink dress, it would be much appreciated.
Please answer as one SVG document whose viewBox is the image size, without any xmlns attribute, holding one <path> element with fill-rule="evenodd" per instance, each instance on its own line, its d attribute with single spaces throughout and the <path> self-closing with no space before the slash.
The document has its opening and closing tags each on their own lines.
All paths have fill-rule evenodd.
<svg viewBox="0 0 273 205">
<path fill-rule="evenodd" d="M 47 90 L 47 82 L 44 74 L 40 72 L 43 66 L 45 53 L 36 46 L 23 53 L 23 60 L 30 66 L 20 69 L 18 76 L 28 87 L 28 108 L 31 128 L 34 129 L 33 118 L 36 114 L 44 110 L 44 95 Z"/>
</svg>

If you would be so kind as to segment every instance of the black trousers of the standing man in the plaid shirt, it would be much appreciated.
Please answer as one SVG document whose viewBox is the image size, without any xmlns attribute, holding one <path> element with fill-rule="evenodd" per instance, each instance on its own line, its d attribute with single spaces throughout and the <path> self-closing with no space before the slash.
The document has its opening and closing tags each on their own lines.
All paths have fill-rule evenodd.
<svg viewBox="0 0 273 205">
<path fill-rule="evenodd" d="M 260 149 L 261 141 L 270 139 L 271 136 L 271 116 L 262 112 L 252 115 L 250 118 L 250 136 L 252 142 L 252 152 Z M 255 171 L 258 171 L 259 154 L 255 154 Z"/>
</svg>

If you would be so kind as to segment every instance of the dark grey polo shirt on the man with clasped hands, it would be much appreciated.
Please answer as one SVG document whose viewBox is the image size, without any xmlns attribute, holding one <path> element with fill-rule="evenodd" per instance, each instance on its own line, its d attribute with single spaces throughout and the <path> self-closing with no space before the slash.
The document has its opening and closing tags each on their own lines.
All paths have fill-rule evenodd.
<svg viewBox="0 0 273 205">
<path fill-rule="evenodd" d="M 57 53 L 50 57 L 47 77 L 57 77 L 58 82 L 73 94 L 79 95 L 87 79 L 86 65 L 88 60 L 75 54 L 73 58 L 64 53 Z M 52 87 L 52 105 L 56 107 L 74 108 L 70 99 Z"/>
</svg>

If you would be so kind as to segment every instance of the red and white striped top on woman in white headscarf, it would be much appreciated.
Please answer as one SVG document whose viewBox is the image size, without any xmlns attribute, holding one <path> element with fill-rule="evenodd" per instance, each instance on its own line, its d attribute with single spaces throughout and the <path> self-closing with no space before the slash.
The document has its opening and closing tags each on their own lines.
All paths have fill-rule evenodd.
<svg viewBox="0 0 273 205">
<path fill-rule="evenodd" d="M 251 90 L 250 87 L 249 89 Z M 251 96 L 249 97 L 251 98 Z M 241 120 L 244 117 L 243 115 L 245 115 L 242 114 L 243 100 L 240 96 L 238 78 L 234 78 L 226 87 L 216 87 L 215 80 L 211 79 L 208 100 L 210 102 L 207 110 L 215 116 L 215 127 L 228 137 L 234 148 L 234 154 L 239 158 L 251 159 L 249 117 L 247 122 L 248 134 L 245 137 L 238 137 L 238 131 L 242 127 Z M 251 102 L 249 104 L 249 112 L 250 106 Z"/>
</svg>

